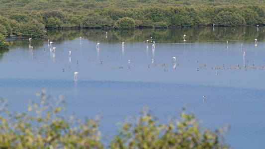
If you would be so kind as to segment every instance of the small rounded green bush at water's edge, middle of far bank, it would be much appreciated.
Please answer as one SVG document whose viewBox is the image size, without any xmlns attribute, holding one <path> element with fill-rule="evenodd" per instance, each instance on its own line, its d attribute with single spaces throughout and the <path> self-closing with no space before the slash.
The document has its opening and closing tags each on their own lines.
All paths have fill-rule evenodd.
<svg viewBox="0 0 265 149">
<path fill-rule="evenodd" d="M 134 19 L 129 18 L 129 17 L 120 18 L 114 23 L 114 28 L 118 28 L 118 29 L 131 29 L 135 27 L 136 27 L 136 23 Z"/>
</svg>

